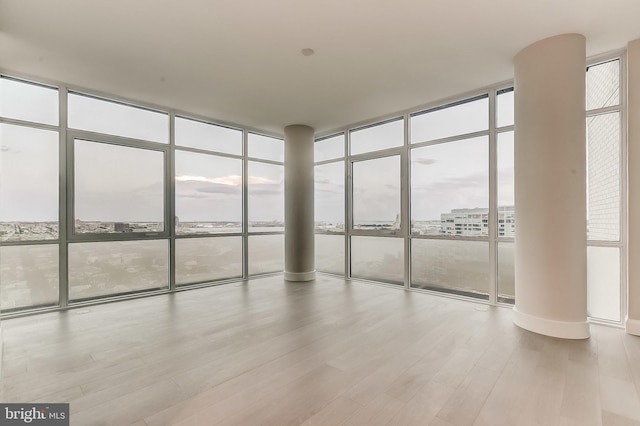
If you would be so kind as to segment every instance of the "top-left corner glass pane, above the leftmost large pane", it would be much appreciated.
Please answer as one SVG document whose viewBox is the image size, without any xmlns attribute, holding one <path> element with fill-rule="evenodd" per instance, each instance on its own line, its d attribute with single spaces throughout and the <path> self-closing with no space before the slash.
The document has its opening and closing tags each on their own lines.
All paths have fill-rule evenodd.
<svg viewBox="0 0 640 426">
<path fill-rule="evenodd" d="M 58 89 L 0 77 L 0 116 L 58 125 Z"/>
</svg>

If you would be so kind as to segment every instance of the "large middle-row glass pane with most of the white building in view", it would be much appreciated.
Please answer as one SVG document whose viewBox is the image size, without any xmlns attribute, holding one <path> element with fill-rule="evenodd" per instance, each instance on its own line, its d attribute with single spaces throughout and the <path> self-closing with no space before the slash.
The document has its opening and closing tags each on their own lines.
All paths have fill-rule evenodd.
<svg viewBox="0 0 640 426">
<path fill-rule="evenodd" d="M 411 150 L 411 231 L 487 236 L 489 138 Z"/>
</svg>

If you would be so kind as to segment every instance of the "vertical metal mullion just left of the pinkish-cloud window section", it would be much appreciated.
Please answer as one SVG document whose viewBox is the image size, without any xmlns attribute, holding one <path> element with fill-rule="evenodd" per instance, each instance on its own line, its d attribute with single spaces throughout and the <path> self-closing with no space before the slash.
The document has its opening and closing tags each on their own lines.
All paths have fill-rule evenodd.
<svg viewBox="0 0 640 426">
<path fill-rule="evenodd" d="M 169 150 L 165 161 L 165 226 L 169 229 L 169 291 L 176 291 L 176 144 L 175 113 L 169 113 Z"/>
</svg>

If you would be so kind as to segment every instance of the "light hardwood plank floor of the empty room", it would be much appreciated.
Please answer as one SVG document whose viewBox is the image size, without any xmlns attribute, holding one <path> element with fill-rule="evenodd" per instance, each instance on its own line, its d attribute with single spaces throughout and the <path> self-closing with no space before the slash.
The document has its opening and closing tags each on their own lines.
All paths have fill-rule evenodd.
<svg viewBox="0 0 640 426">
<path fill-rule="evenodd" d="M 640 338 L 320 276 L 5 320 L 0 401 L 85 425 L 640 425 Z"/>
</svg>

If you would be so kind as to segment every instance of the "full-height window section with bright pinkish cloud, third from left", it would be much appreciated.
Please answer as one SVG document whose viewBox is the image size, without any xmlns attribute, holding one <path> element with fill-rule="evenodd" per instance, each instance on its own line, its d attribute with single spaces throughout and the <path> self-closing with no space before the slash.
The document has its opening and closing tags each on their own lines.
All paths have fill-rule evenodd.
<svg viewBox="0 0 640 426">
<path fill-rule="evenodd" d="M 175 119 L 176 285 L 242 277 L 240 129 Z"/>
</svg>

